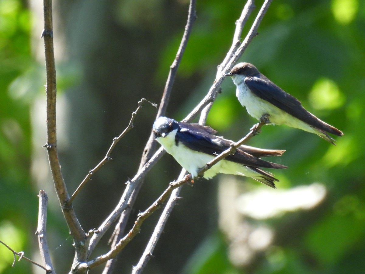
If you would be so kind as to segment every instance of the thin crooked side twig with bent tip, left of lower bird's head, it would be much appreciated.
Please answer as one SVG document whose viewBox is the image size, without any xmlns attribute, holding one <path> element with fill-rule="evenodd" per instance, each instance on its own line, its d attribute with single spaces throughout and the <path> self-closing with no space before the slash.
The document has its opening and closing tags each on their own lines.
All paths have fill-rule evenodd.
<svg viewBox="0 0 365 274">
<path fill-rule="evenodd" d="M 145 98 L 142 98 L 138 102 L 138 107 L 137 107 L 137 109 L 135 111 L 132 112 L 132 117 L 131 117 L 131 119 L 129 121 L 129 124 L 128 124 L 127 128 L 124 129 L 123 132 L 118 137 L 115 137 L 113 139 L 113 142 L 112 142 L 110 148 L 108 149 L 107 154 L 105 154 L 105 157 L 103 158 L 103 160 L 101 160 L 100 163 L 96 165 L 96 167 L 94 167 L 92 170 L 89 171 L 89 173 L 86 175 L 86 177 L 84 178 L 84 180 L 82 180 L 82 182 L 80 183 L 80 185 L 77 187 L 77 189 L 75 190 L 75 192 L 72 194 L 71 198 L 67 201 L 66 206 L 70 206 L 71 205 L 73 199 L 80 192 L 80 190 L 85 186 L 85 184 L 90 180 L 91 176 L 93 174 L 95 174 L 95 172 L 98 171 L 107 161 L 109 161 L 109 160 L 112 159 L 110 157 L 110 155 L 111 155 L 113 149 L 115 148 L 116 144 L 120 141 L 120 139 L 122 139 L 123 136 L 126 135 L 126 133 L 133 128 L 133 121 L 136 118 L 139 110 L 142 108 L 143 102 L 148 102 L 152 106 L 156 107 L 156 104 L 151 103 L 149 100 L 146 100 Z"/>
</svg>

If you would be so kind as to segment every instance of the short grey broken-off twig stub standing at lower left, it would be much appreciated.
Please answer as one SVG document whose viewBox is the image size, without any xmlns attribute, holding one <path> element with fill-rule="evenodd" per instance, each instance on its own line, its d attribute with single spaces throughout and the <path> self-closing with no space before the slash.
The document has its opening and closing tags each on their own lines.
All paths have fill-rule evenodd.
<svg viewBox="0 0 365 274">
<path fill-rule="evenodd" d="M 39 251 L 41 252 L 41 257 L 43 263 L 46 266 L 47 273 L 54 274 L 54 268 L 51 261 L 51 256 L 49 255 L 48 245 L 47 245 L 47 235 L 46 235 L 46 224 L 47 224 L 47 203 L 48 196 L 44 190 L 39 191 L 39 208 L 38 208 L 38 227 L 35 233 L 38 237 Z"/>
</svg>

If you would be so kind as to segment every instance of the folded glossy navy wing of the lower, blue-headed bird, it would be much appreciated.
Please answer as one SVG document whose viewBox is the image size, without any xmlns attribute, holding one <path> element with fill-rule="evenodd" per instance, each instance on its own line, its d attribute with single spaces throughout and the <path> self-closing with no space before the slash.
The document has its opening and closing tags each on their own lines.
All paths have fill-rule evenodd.
<svg viewBox="0 0 365 274">
<path fill-rule="evenodd" d="M 180 131 L 176 133 L 176 141 L 188 148 L 216 156 L 230 148 L 232 141 L 214 136 L 207 131 L 201 131 L 201 126 L 181 124 Z M 199 128 L 199 130 L 197 130 Z M 254 157 L 238 148 L 234 155 L 228 155 L 227 160 L 251 167 L 286 168 L 285 165 L 275 164 Z"/>
</svg>

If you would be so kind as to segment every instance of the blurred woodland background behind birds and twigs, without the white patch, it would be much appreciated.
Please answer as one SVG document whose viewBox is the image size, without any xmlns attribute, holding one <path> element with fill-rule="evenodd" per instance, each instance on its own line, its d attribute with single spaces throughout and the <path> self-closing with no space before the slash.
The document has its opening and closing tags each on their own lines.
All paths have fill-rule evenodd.
<svg viewBox="0 0 365 274">
<path fill-rule="evenodd" d="M 257 1 L 257 7 L 261 2 Z M 182 119 L 207 93 L 244 4 L 198 1 L 198 18 L 167 116 Z M 66 273 L 72 263 L 72 239 L 42 148 L 46 132 L 41 9 L 41 1 L 0 3 L 0 239 L 40 262 L 34 231 L 37 194 L 45 189 L 50 197 L 50 251 L 57 273 Z M 142 97 L 159 102 L 184 31 L 188 2 L 55 1 L 54 9 L 58 148 L 72 193 L 105 155 L 112 138 L 127 126 L 137 102 Z M 288 170 L 275 172 L 281 180 L 278 189 L 320 182 L 327 187 L 326 199 L 314 209 L 251 220 L 270 226 L 276 237 L 270 248 L 238 266 L 227 255 L 230 238 L 217 227 L 217 179 L 199 180 L 183 188 L 183 199 L 174 208 L 145 273 L 361 273 L 365 255 L 364 19 L 363 1 L 273 1 L 260 35 L 241 58 L 345 133 L 337 138 L 337 146 L 331 146 L 314 134 L 266 126 L 250 141 L 250 145 L 287 150 L 274 159 L 289 165 Z M 238 140 L 255 121 L 234 92 L 232 81 L 225 80 L 207 124 Z M 137 171 L 155 114 L 153 107 L 143 107 L 135 128 L 113 151 L 113 161 L 93 176 L 75 200 L 86 231 L 100 225 L 119 200 L 124 182 Z M 133 216 L 149 206 L 179 172 L 180 167 L 165 155 L 147 176 Z M 246 181 L 249 190 L 261 187 L 254 180 Z M 143 224 L 141 233 L 120 254 L 116 273 L 129 273 L 138 262 L 160 212 Z M 107 251 L 107 238 L 92 256 Z M 11 267 L 12 259 L 0 247 L 0 273 L 32 271 L 25 261 Z"/>
</svg>

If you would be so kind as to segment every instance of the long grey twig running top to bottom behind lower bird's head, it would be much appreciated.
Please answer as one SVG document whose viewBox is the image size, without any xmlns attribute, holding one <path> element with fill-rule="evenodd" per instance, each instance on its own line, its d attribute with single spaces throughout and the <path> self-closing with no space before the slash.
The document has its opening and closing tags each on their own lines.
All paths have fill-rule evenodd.
<svg viewBox="0 0 365 274">
<path fill-rule="evenodd" d="M 187 23 L 185 25 L 185 31 L 183 34 L 183 38 L 181 39 L 180 46 L 177 50 L 175 59 L 172 62 L 172 65 L 170 66 L 169 75 L 166 80 L 164 93 L 162 94 L 162 98 L 161 98 L 159 109 L 157 111 L 156 118 L 160 117 L 161 115 L 164 115 L 166 112 L 166 108 L 168 106 L 170 94 L 172 91 L 172 86 L 173 86 L 173 83 L 174 83 L 174 80 L 176 77 L 177 69 L 180 64 L 181 58 L 183 57 L 185 47 L 187 46 L 193 23 L 196 19 L 195 4 L 196 4 L 196 0 L 190 1 L 188 19 L 187 19 Z M 143 166 L 146 164 L 147 160 L 151 158 L 152 153 L 155 149 L 155 145 L 156 145 L 156 142 L 154 140 L 153 132 L 151 131 L 150 137 L 146 143 L 145 148 L 143 149 L 141 162 L 139 164 L 139 170 L 141 170 L 143 168 Z M 137 183 L 137 186 L 135 187 L 134 191 L 132 192 L 130 198 L 128 199 L 128 205 L 130 205 L 130 207 L 132 207 L 134 205 L 134 202 L 137 199 L 137 195 L 143 184 L 143 179 L 139 180 L 136 183 Z M 119 220 L 118 224 L 116 225 L 113 236 L 112 236 L 113 239 L 112 239 L 111 248 L 113 248 L 115 246 L 115 244 L 118 243 L 118 241 L 121 239 L 121 237 L 124 233 L 124 229 L 127 224 L 128 218 L 130 216 L 130 212 L 131 212 L 130 209 L 124 210 L 122 215 L 120 216 L 120 220 Z M 111 273 L 114 263 L 115 263 L 115 259 L 109 261 L 105 265 L 103 274 Z"/>
</svg>

